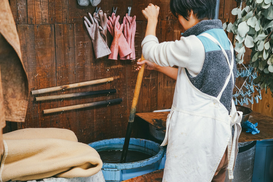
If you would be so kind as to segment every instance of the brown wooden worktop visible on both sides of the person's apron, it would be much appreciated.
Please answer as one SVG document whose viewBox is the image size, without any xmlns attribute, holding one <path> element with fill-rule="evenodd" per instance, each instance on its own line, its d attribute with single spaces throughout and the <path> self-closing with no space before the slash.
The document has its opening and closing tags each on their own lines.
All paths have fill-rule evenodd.
<svg viewBox="0 0 273 182">
<path fill-rule="evenodd" d="M 166 130 L 163 129 L 166 128 L 166 120 L 169 113 L 170 112 L 146 112 L 137 113 L 136 116 L 141 118 L 145 122 L 152 124 L 156 128 L 166 132 Z M 258 112 L 252 112 L 249 117 L 249 121 L 253 124 L 258 122 L 258 126 L 256 128 L 260 130 L 260 133 L 252 135 L 251 133 L 246 133 L 246 130 L 242 129 L 239 137 L 239 142 L 273 138 L 273 118 L 262 115 Z"/>
</svg>

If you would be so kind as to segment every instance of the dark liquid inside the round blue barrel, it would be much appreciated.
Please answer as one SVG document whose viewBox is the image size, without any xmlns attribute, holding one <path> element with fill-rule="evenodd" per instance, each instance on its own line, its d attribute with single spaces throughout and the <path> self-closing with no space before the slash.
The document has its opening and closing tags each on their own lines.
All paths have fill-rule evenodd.
<svg viewBox="0 0 273 182">
<path fill-rule="evenodd" d="M 106 150 L 98 152 L 101 160 L 104 163 L 120 163 L 121 162 L 121 150 Z M 126 163 L 127 162 L 137 162 L 148 159 L 152 157 L 152 155 L 148 155 L 146 153 L 142 153 L 139 151 L 128 150 Z"/>
</svg>

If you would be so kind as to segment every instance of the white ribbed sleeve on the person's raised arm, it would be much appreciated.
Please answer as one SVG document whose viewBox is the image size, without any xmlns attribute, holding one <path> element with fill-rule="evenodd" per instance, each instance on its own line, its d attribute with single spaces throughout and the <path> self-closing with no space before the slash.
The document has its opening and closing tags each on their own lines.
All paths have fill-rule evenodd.
<svg viewBox="0 0 273 182">
<path fill-rule="evenodd" d="M 205 60 L 204 45 L 195 35 L 162 43 L 154 35 L 148 35 L 143 39 L 141 47 L 146 60 L 159 66 L 187 68 L 191 76 L 201 71 Z"/>
</svg>

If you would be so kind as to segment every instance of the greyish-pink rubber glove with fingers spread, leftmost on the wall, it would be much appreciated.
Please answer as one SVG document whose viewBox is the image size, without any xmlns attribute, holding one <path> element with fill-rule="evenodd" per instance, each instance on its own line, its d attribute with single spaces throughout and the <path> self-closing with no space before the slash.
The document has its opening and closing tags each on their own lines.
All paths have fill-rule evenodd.
<svg viewBox="0 0 273 182">
<path fill-rule="evenodd" d="M 84 17 L 85 20 L 83 22 L 85 24 L 89 36 L 91 37 L 96 59 L 111 54 L 109 47 L 103 40 L 103 37 L 101 37 L 101 33 L 99 30 L 99 22 L 97 21 L 97 19 L 93 19 L 90 13 L 88 13 L 88 15 L 91 20 L 91 23 L 87 17 Z"/>
</svg>

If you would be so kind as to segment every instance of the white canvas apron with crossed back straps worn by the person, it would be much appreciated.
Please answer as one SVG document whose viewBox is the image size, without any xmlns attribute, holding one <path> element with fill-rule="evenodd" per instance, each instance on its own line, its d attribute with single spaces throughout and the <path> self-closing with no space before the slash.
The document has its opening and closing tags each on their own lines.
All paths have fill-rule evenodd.
<svg viewBox="0 0 273 182">
<path fill-rule="evenodd" d="M 210 96 L 192 85 L 185 68 L 178 68 L 172 109 L 166 122 L 167 145 L 164 182 L 211 181 L 228 146 L 228 174 L 233 178 L 233 166 L 238 153 L 242 112 L 237 112 L 232 100 L 230 114 L 220 98 L 230 78 L 234 84 L 233 46 L 230 43 L 231 63 L 220 43 L 208 33 L 205 36 L 220 46 L 230 73 L 217 97 Z M 218 83 L 215 83 L 218 84 Z M 239 116 L 238 116 L 239 115 Z M 234 125 L 232 139 L 231 127 Z"/>
</svg>

